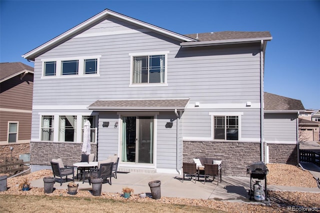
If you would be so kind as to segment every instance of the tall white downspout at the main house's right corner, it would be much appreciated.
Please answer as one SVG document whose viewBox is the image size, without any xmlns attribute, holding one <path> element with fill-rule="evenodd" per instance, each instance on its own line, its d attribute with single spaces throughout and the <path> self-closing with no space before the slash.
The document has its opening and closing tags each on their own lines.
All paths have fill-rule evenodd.
<svg viewBox="0 0 320 213">
<path fill-rule="evenodd" d="M 264 98 L 263 98 L 263 75 L 264 75 L 264 61 L 263 61 L 263 40 L 261 40 L 260 44 L 260 149 L 261 149 L 261 161 L 265 162 L 263 158 L 264 153 L 264 128 L 263 128 L 263 121 L 264 121 Z M 266 153 L 265 153 L 266 154 Z"/>
</svg>

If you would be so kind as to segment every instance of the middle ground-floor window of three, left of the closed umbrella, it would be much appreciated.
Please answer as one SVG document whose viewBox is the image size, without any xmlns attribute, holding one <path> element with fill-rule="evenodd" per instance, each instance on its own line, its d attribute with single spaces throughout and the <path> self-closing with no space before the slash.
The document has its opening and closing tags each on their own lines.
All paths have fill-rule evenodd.
<svg viewBox="0 0 320 213">
<path fill-rule="evenodd" d="M 76 141 L 76 116 L 59 117 L 59 141 Z"/>
</svg>

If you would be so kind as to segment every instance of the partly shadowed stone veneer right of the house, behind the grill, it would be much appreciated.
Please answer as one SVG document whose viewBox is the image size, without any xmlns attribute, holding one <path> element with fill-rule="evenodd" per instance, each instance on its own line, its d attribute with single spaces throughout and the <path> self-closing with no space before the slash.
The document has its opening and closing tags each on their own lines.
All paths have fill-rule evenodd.
<svg viewBox="0 0 320 213">
<path fill-rule="evenodd" d="M 269 163 L 298 163 L 296 144 L 267 144 L 269 147 Z"/>
</svg>

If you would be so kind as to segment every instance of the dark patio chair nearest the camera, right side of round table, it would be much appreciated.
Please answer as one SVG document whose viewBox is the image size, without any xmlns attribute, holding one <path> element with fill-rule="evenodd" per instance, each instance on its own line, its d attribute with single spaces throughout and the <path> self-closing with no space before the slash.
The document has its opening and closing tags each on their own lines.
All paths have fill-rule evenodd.
<svg viewBox="0 0 320 213">
<path fill-rule="evenodd" d="M 91 168 L 90 169 L 90 176 L 89 176 L 89 185 L 91 185 L 91 178 L 102 178 L 103 183 L 106 183 L 107 178 L 109 178 L 109 184 L 111 184 L 111 178 L 113 177 L 112 173 L 112 168 L 113 168 L 113 162 L 109 163 L 100 163 L 98 165 L 97 169 Z M 104 182 L 105 179 L 105 182 Z"/>
</svg>

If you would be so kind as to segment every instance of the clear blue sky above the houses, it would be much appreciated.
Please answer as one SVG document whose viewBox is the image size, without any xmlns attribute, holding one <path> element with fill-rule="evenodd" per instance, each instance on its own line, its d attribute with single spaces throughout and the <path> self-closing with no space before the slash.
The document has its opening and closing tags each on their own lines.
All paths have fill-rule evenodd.
<svg viewBox="0 0 320 213">
<path fill-rule="evenodd" d="M 0 0 L 0 62 L 21 55 L 105 8 L 180 33 L 270 31 L 264 91 L 320 109 L 320 1 Z"/>
</svg>

